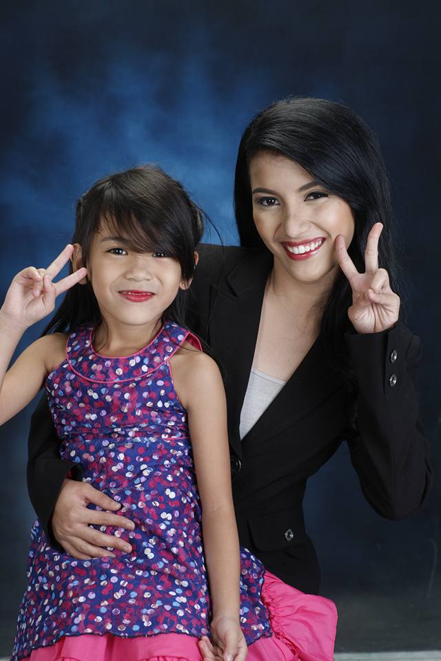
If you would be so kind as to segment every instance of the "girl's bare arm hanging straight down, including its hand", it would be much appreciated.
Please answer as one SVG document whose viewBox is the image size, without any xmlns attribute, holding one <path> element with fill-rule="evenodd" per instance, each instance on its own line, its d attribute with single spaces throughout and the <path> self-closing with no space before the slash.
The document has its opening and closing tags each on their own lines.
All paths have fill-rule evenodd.
<svg viewBox="0 0 441 661">
<path fill-rule="evenodd" d="M 223 382 L 214 360 L 203 353 L 181 350 L 172 364 L 176 391 L 187 409 L 201 496 L 214 650 L 225 660 L 242 660 L 246 644 L 239 621 L 240 554 Z"/>
</svg>

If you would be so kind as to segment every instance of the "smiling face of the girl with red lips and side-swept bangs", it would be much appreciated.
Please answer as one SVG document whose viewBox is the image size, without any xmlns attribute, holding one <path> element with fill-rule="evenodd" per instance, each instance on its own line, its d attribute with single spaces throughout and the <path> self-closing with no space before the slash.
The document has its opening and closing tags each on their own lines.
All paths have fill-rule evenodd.
<svg viewBox="0 0 441 661">
<path fill-rule="evenodd" d="M 181 264 L 163 253 L 136 253 L 117 229 L 101 223 L 88 257 L 88 278 L 109 322 L 140 326 L 156 322 L 187 288 Z"/>
</svg>

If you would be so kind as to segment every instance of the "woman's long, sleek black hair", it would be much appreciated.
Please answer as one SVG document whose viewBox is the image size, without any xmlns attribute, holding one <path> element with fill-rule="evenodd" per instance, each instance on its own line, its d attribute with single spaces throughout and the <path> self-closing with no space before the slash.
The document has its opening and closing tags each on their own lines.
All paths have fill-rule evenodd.
<svg viewBox="0 0 441 661">
<path fill-rule="evenodd" d="M 365 271 L 367 235 L 374 223 L 382 222 L 378 262 L 387 269 L 391 288 L 399 294 L 389 178 L 378 140 L 367 124 L 342 103 L 311 97 L 277 101 L 254 117 L 240 140 L 234 204 L 240 244 L 267 250 L 254 225 L 249 181 L 249 162 L 262 150 L 296 162 L 349 204 L 355 232 L 348 253 L 360 272 Z M 350 328 L 347 309 L 351 302 L 351 287 L 339 271 L 322 311 L 320 339 L 352 389 L 355 379 L 344 339 Z"/>
</svg>

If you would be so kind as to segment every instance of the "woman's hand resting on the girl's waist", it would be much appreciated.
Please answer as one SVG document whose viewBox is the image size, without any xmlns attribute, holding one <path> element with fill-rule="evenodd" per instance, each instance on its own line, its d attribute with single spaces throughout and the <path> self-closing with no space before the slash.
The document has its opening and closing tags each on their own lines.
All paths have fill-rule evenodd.
<svg viewBox="0 0 441 661">
<path fill-rule="evenodd" d="M 133 521 L 112 512 L 90 510 L 93 503 L 102 510 L 119 510 L 121 505 L 86 482 L 65 480 L 52 514 L 52 532 L 59 544 L 68 554 L 79 560 L 114 556 L 105 547 L 119 549 L 125 553 L 132 551 L 131 545 L 114 535 L 107 535 L 90 527 L 94 525 L 112 525 L 127 530 L 134 529 Z"/>
</svg>

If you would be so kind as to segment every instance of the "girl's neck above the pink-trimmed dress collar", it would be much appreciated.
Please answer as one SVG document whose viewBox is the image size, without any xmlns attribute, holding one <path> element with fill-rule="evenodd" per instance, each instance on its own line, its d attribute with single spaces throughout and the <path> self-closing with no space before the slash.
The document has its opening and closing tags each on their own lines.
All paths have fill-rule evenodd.
<svg viewBox="0 0 441 661">
<path fill-rule="evenodd" d="M 139 326 L 103 319 L 94 330 L 93 347 L 96 353 L 108 357 L 130 356 L 150 344 L 161 326 L 161 319 Z"/>
</svg>

